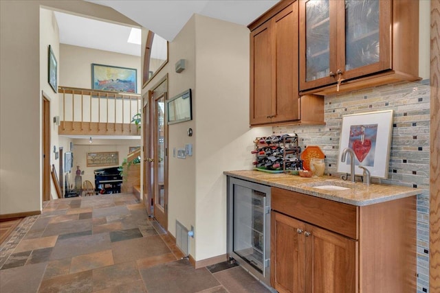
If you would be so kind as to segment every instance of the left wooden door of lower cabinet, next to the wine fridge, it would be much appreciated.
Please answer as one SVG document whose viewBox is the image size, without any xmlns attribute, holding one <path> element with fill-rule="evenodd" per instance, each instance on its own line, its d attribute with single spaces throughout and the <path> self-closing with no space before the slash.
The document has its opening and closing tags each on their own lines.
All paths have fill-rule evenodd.
<svg viewBox="0 0 440 293">
<path fill-rule="evenodd" d="M 304 292 L 305 224 L 275 211 L 271 220 L 271 285 L 278 292 Z"/>
</svg>

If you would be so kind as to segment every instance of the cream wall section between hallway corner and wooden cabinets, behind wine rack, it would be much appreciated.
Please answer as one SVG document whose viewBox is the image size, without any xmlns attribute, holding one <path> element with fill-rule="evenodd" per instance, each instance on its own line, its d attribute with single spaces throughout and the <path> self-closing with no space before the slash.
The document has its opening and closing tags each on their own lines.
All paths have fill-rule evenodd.
<svg viewBox="0 0 440 293">
<path fill-rule="evenodd" d="M 249 30 L 206 16 L 196 19 L 196 260 L 226 253 L 226 177 L 252 168 L 249 128 Z"/>
</svg>

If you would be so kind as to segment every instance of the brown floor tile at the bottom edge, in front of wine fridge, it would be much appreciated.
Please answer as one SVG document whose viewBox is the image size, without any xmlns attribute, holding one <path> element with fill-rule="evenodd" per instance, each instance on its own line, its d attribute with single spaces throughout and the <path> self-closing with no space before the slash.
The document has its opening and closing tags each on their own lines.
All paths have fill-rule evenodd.
<svg viewBox="0 0 440 293">
<path fill-rule="evenodd" d="M 230 268 L 229 270 L 221 270 L 212 275 L 229 292 L 270 293 L 270 290 L 265 288 L 262 283 L 252 277 L 248 272 L 241 268 L 241 266 Z"/>
</svg>

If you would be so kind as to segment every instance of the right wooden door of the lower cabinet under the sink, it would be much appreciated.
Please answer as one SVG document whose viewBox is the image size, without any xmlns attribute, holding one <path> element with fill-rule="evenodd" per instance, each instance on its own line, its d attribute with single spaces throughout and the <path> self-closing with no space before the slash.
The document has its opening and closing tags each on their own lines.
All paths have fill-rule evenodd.
<svg viewBox="0 0 440 293">
<path fill-rule="evenodd" d="M 306 292 L 358 292 L 358 242 L 306 225 Z"/>
</svg>

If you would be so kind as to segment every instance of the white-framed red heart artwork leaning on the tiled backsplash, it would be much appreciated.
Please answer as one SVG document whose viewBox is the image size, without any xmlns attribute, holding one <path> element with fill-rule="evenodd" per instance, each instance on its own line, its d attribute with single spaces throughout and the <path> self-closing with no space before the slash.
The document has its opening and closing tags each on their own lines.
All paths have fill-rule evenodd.
<svg viewBox="0 0 440 293">
<path fill-rule="evenodd" d="M 392 130 L 393 110 L 342 116 L 337 172 L 350 172 L 351 158 L 341 162 L 341 156 L 344 148 L 351 148 L 355 175 L 362 176 L 359 166 L 363 166 L 371 177 L 388 178 Z"/>
</svg>

